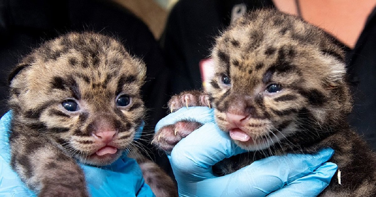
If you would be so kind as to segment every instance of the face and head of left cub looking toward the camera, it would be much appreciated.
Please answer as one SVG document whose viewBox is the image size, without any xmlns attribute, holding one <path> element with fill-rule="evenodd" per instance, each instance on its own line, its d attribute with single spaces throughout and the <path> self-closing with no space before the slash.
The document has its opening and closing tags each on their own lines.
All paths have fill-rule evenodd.
<svg viewBox="0 0 376 197">
<path fill-rule="evenodd" d="M 112 38 L 70 33 L 30 54 L 11 77 L 24 132 L 56 141 L 92 165 L 115 161 L 143 122 L 146 68 Z"/>
</svg>

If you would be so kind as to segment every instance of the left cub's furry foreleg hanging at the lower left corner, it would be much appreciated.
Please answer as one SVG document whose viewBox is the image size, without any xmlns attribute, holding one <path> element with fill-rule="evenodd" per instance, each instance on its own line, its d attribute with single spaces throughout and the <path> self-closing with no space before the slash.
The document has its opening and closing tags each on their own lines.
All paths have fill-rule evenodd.
<svg viewBox="0 0 376 197">
<path fill-rule="evenodd" d="M 41 137 L 11 137 L 11 166 L 39 197 L 89 196 L 76 161 Z"/>
</svg>

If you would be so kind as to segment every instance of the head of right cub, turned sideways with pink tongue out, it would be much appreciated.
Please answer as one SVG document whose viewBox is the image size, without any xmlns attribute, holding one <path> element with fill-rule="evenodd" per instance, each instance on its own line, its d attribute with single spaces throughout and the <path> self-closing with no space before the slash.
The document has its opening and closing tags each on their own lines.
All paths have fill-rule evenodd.
<svg viewBox="0 0 376 197">
<path fill-rule="evenodd" d="M 314 140 L 351 109 L 342 51 L 295 17 L 253 12 L 217 39 L 212 58 L 216 121 L 244 149 Z"/>
</svg>

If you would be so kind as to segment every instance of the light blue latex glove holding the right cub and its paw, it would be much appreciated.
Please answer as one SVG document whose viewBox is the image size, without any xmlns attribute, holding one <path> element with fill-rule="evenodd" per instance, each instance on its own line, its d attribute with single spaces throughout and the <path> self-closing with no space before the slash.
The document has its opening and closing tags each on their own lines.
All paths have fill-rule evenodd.
<svg viewBox="0 0 376 197">
<path fill-rule="evenodd" d="M 218 128 L 213 109 L 207 107 L 182 108 L 160 120 L 155 131 L 182 119 L 204 125 L 183 138 L 168 155 L 179 196 L 317 196 L 337 170 L 336 164 L 326 162 L 334 150 L 323 149 L 315 155 L 270 156 L 216 177 L 212 165 L 246 150 Z"/>
</svg>

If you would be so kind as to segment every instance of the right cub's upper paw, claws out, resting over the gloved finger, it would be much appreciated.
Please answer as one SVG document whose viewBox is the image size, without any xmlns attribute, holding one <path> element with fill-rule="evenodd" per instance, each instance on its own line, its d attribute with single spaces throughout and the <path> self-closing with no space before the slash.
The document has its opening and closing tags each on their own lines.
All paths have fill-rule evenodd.
<svg viewBox="0 0 376 197">
<path fill-rule="evenodd" d="M 185 91 L 171 97 L 168 101 L 171 113 L 183 107 L 193 106 L 210 107 L 209 95 L 198 90 Z"/>
</svg>

